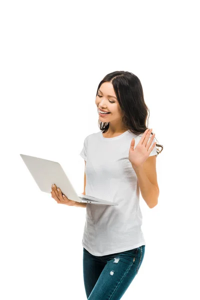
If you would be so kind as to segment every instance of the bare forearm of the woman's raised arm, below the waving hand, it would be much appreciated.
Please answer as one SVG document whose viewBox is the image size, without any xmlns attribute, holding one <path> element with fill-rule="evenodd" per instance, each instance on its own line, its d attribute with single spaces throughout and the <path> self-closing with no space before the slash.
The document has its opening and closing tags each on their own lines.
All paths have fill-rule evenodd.
<svg viewBox="0 0 200 300">
<path fill-rule="evenodd" d="M 142 198 L 144 199 L 148 207 L 150 208 L 154 207 L 157 204 L 158 195 L 159 195 L 157 186 L 150 182 L 150 180 L 146 176 L 146 173 L 143 170 L 143 167 L 139 167 L 139 168 L 133 167 L 133 169 L 137 176 L 137 181 L 139 184 L 139 189 Z"/>
</svg>

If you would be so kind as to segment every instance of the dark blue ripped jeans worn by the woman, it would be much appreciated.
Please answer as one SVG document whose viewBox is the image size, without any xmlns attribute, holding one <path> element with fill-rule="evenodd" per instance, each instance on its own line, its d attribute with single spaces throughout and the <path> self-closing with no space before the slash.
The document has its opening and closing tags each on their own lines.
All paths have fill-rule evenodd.
<svg viewBox="0 0 200 300">
<path fill-rule="evenodd" d="M 88 300 L 119 300 L 137 274 L 145 245 L 94 256 L 83 247 L 83 280 Z"/>
</svg>

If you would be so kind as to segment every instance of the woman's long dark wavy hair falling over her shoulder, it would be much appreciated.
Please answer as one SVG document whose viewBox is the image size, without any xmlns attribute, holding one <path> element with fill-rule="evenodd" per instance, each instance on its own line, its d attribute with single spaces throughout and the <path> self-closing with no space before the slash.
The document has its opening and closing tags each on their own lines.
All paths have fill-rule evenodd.
<svg viewBox="0 0 200 300">
<path fill-rule="evenodd" d="M 113 85 L 120 108 L 124 113 L 122 117 L 124 127 L 136 135 L 143 134 L 148 128 L 149 109 L 144 102 L 143 89 L 139 78 L 127 71 L 111 72 L 105 75 L 98 84 L 96 95 L 103 82 L 110 82 Z M 98 119 L 98 127 L 104 133 L 109 128 L 109 122 L 101 122 Z M 153 134 L 152 131 L 151 134 Z M 161 147 L 161 150 L 157 149 L 157 147 Z M 156 143 L 157 154 L 159 154 L 162 149 L 163 146 Z"/>
</svg>

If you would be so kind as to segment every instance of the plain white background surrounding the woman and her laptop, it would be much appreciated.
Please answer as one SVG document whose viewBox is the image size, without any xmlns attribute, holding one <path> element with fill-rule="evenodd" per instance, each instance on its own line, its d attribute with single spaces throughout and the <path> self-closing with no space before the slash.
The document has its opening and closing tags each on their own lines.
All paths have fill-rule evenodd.
<svg viewBox="0 0 200 300">
<path fill-rule="evenodd" d="M 158 205 L 140 195 L 145 256 L 122 299 L 199 299 L 198 1 L 0 2 L 0 298 L 86 299 L 85 208 L 41 192 L 19 153 L 58 161 L 83 192 L 84 138 L 109 72 L 142 83 Z"/>
</svg>

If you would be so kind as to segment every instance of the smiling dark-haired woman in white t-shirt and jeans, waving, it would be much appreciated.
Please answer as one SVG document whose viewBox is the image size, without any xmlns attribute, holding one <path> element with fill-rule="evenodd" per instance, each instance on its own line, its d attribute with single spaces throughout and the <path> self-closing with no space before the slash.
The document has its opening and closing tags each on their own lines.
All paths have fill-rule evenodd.
<svg viewBox="0 0 200 300">
<path fill-rule="evenodd" d="M 83 194 L 118 205 L 79 203 L 52 188 L 58 203 L 86 207 L 82 238 L 83 279 L 88 300 L 118 300 L 137 274 L 145 251 L 139 190 L 146 204 L 157 204 L 155 134 L 146 127 L 148 108 L 137 76 L 107 74 L 95 104 L 100 131 L 84 139 Z M 103 113 L 104 112 L 104 113 Z"/>
</svg>

